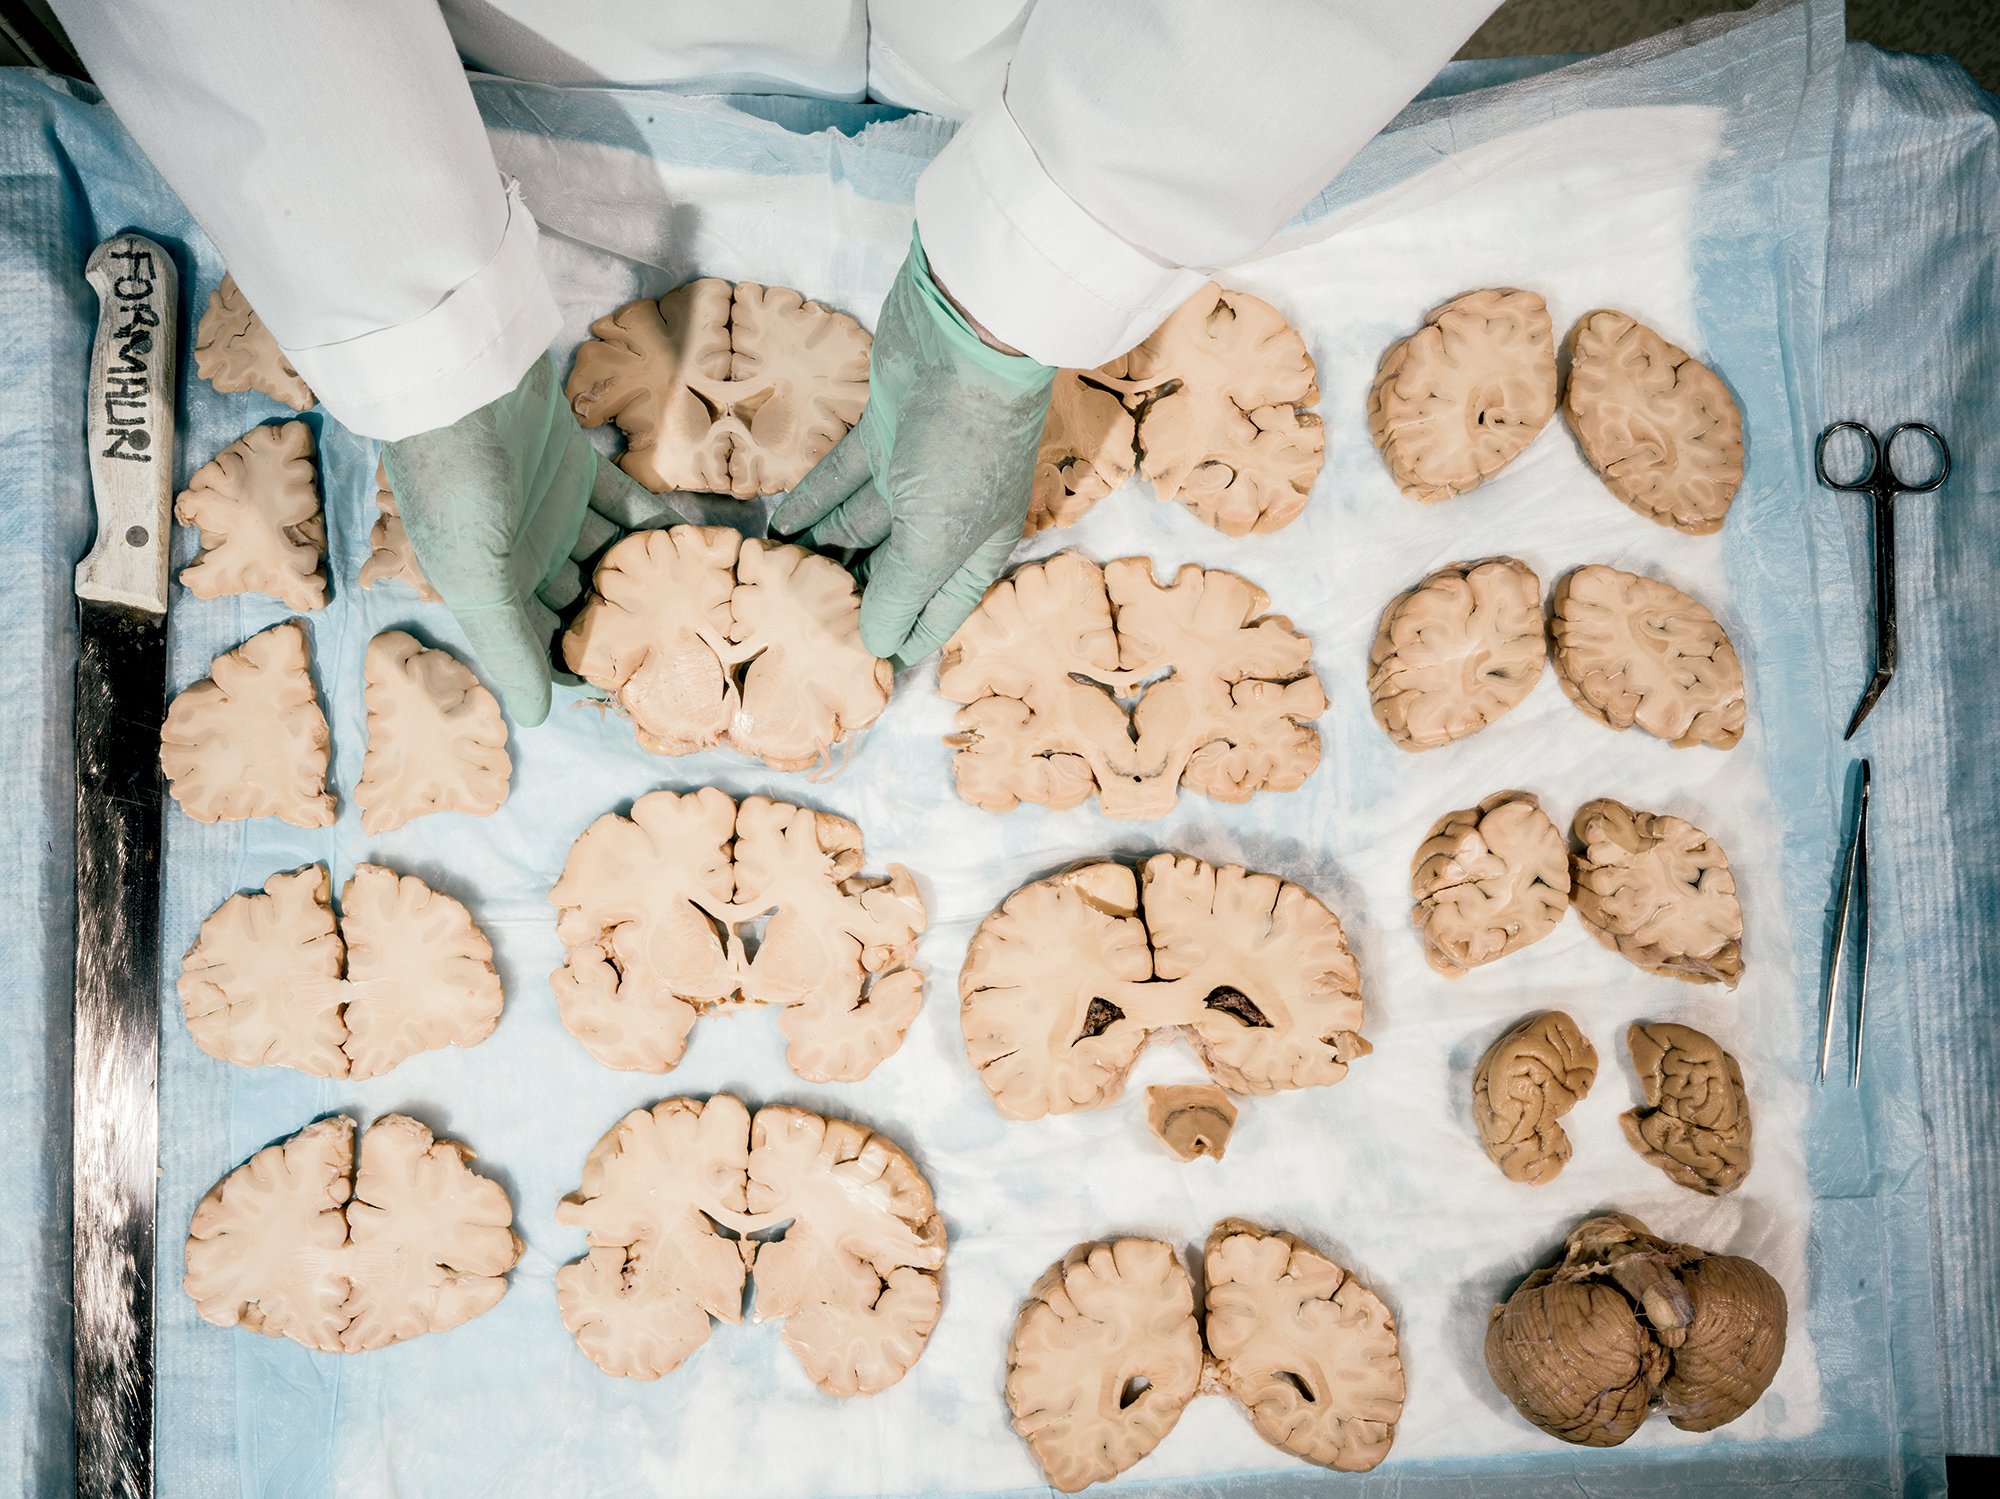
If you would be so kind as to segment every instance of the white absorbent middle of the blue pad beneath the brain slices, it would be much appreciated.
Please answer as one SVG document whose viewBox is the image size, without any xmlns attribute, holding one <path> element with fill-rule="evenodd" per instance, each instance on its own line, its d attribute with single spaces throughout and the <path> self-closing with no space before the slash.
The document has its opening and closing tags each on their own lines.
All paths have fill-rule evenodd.
<svg viewBox="0 0 2000 1499">
<path fill-rule="evenodd" d="M 560 140 L 502 136 L 496 146 L 530 192 L 544 174 L 574 172 L 586 160 Z M 594 170 L 602 148 L 582 150 L 592 152 Z M 1326 761 L 1296 793 L 1264 793 L 1240 807 L 1188 795 L 1170 817 L 1146 825 L 1106 821 L 1090 807 L 978 811 L 950 789 L 938 736 L 950 730 L 952 708 L 934 694 L 934 670 L 922 668 L 898 684 L 884 718 L 822 783 L 730 755 L 660 759 L 638 750 L 620 720 L 558 706 L 546 728 L 514 738 L 514 789 L 500 813 L 426 817 L 368 839 L 350 803 L 366 742 L 360 656 L 378 630 L 414 624 L 442 644 L 456 644 L 456 632 L 442 610 L 398 590 L 348 592 L 312 618 L 342 819 L 328 835 L 244 829 L 236 881 L 260 883 L 306 857 L 330 859 L 336 881 L 362 857 L 420 873 L 466 899 L 494 939 L 508 1007 L 480 1047 L 428 1053 L 362 1083 L 234 1073 L 232 1155 L 216 1161 L 216 1173 L 318 1111 L 366 1119 L 408 1109 L 466 1139 L 482 1169 L 508 1185 L 528 1249 L 492 1313 L 384 1353 L 336 1359 L 212 1333 L 236 1339 L 244 1483 L 294 1475 L 304 1491 L 318 1491 L 298 1465 L 310 1461 L 318 1473 L 324 1461 L 332 1491 L 352 1495 L 1028 1487 L 1038 1473 L 1002 1401 L 1006 1337 L 1028 1285 L 1078 1241 L 1150 1233 L 1198 1245 L 1226 1215 L 1306 1235 L 1396 1311 L 1410 1399 L 1394 1459 L 1548 1451 L 1548 1439 L 1484 1375 L 1486 1307 L 1578 1217 L 1604 1207 L 1754 1255 L 1784 1283 L 1794 1309 L 1778 1383 L 1750 1415 L 1706 1437 L 1656 1419 L 1632 1449 L 1722 1455 L 1812 1431 L 1820 1389 L 1804 1315 L 1808 1091 L 1792 1001 L 1802 955 L 1792 951 L 1788 901 L 1818 891 L 1786 889 L 1758 702 L 1734 751 L 1672 750 L 1594 724 L 1548 676 L 1484 734 L 1408 755 L 1372 724 L 1364 686 L 1380 608 L 1458 558 L 1518 556 L 1544 588 L 1586 562 L 1656 572 L 1738 626 L 1722 544 L 1660 530 L 1620 506 L 1560 424 L 1478 494 L 1444 506 L 1402 500 L 1364 426 L 1382 348 L 1428 306 L 1470 286 L 1532 286 L 1548 296 L 1558 330 L 1604 304 L 1698 344 L 1690 216 L 1716 150 L 1716 118 L 1702 108 L 1580 112 L 1468 148 L 1300 230 L 1284 254 L 1230 270 L 1228 284 L 1276 302 L 1318 360 L 1328 466 L 1306 514 L 1278 536 L 1228 540 L 1126 486 L 1078 528 L 1030 548 L 1078 546 L 1100 560 L 1150 554 L 1162 576 L 1202 562 L 1266 588 L 1272 608 L 1312 638 L 1332 698 L 1320 722 Z M 688 166 L 658 174 L 674 202 L 700 204 L 680 246 L 710 274 L 788 282 L 864 320 L 880 304 L 908 234 L 906 208 L 862 202 L 822 178 Z M 1580 194 L 1600 212 L 1578 216 Z M 644 244 L 618 252 L 620 224 L 550 218 L 550 230 L 544 254 L 564 346 L 618 300 L 662 290 L 656 274 L 636 268 Z M 342 580 L 366 552 L 370 462 L 368 446 L 344 436 L 324 458 L 328 474 L 340 476 L 330 480 L 338 492 L 330 532 Z M 262 624 L 264 612 L 262 602 L 236 606 L 236 638 Z M 202 616 L 202 624 L 216 620 Z M 178 628 L 190 628 L 186 616 Z M 1760 642 L 1738 628 L 1736 644 L 1754 682 Z M 182 662 L 174 686 L 202 670 L 204 662 Z M 684 1063 L 664 1077 L 606 1071 L 564 1033 L 546 987 L 562 959 L 546 893 L 570 841 L 596 815 L 652 787 L 700 783 L 850 815 L 866 835 L 866 869 L 900 861 L 918 875 L 930 905 L 920 949 L 928 999 L 902 1051 L 864 1083 L 800 1083 L 784 1067 L 768 1013 L 702 1019 Z M 1574 915 L 1542 943 L 1468 977 L 1430 971 L 1408 923 L 1410 855 L 1438 815 L 1510 785 L 1538 791 L 1558 823 L 1584 799 L 1618 795 L 1714 833 L 1744 895 L 1742 987 L 1726 993 L 1640 973 Z M 176 845 L 236 837 L 234 829 L 192 829 L 186 819 L 172 831 Z M 1318 893 L 1346 923 L 1368 999 L 1364 1031 L 1374 1055 L 1336 1087 L 1244 1101 L 1220 1165 L 1180 1165 L 1144 1127 L 1146 1083 L 1200 1077 L 1184 1047 L 1146 1051 L 1112 1107 L 1006 1123 L 966 1063 L 956 1019 L 964 943 L 1008 891 L 1074 859 L 1162 847 L 1268 869 Z M 1592 1037 L 1600 1077 L 1566 1119 L 1574 1161 L 1552 1185 L 1530 1189 L 1504 1181 L 1482 1155 L 1470 1075 L 1500 1029 L 1550 1005 L 1568 1009 Z M 1616 1115 L 1638 1099 L 1622 1049 L 1634 1019 L 1694 1023 L 1742 1063 L 1756 1167 L 1738 1193 L 1696 1197 L 1626 1145 Z M 576 1187 L 590 1145 L 628 1107 L 710 1091 L 862 1119 L 906 1145 L 926 1171 L 950 1229 L 946 1303 L 928 1351 L 890 1391 L 866 1401 L 818 1395 L 774 1327 L 716 1327 L 682 1371 L 658 1383 L 602 1375 L 562 1329 L 552 1279 L 582 1251 L 582 1235 L 554 1223 L 556 1199 Z M 162 1235 L 178 1231 L 162 1223 Z M 178 1291 L 162 1287 L 162 1295 Z M 318 1429 L 324 1447 L 310 1435 Z M 1130 1479 L 1258 1471 L 1302 1469 L 1266 1447 L 1230 1401 L 1202 1399 Z"/>
</svg>

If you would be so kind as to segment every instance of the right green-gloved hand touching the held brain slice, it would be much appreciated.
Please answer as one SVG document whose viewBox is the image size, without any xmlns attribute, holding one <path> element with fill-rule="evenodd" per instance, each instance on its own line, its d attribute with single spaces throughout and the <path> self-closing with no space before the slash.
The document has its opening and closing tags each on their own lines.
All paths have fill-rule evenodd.
<svg viewBox="0 0 2000 1499">
<path fill-rule="evenodd" d="M 862 420 L 770 518 L 812 546 L 874 548 L 862 644 L 910 666 L 1000 576 L 1028 518 L 1056 372 L 988 346 L 930 278 L 924 244 L 882 304 Z"/>
</svg>

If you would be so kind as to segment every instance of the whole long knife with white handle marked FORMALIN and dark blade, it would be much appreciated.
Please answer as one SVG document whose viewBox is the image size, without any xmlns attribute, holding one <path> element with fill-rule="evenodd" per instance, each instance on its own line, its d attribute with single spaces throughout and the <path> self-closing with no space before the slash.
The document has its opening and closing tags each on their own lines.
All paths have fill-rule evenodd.
<svg viewBox="0 0 2000 1499">
<path fill-rule="evenodd" d="M 76 1493 L 152 1493 L 160 1161 L 160 722 L 180 278 L 100 244 L 90 350 L 96 540 L 76 566 L 76 1015 L 70 1203 Z"/>
</svg>

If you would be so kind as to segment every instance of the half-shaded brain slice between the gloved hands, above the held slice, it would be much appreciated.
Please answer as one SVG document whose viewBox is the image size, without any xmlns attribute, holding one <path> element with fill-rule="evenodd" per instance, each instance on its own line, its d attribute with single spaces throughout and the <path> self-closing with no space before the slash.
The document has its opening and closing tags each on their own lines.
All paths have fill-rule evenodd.
<svg viewBox="0 0 2000 1499">
<path fill-rule="evenodd" d="M 784 286 L 714 276 L 590 324 L 568 398 L 618 422 L 648 490 L 752 500 L 790 490 L 868 402 L 868 332 Z"/>
</svg>

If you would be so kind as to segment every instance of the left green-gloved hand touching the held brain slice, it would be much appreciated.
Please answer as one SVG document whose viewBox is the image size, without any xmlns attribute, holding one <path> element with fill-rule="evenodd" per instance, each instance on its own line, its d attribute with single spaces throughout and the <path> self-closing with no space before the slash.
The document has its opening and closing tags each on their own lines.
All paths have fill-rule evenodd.
<svg viewBox="0 0 2000 1499">
<path fill-rule="evenodd" d="M 424 578 L 514 722 L 540 724 L 556 610 L 584 586 L 578 564 L 620 532 L 680 516 L 598 460 L 546 358 L 448 428 L 388 444 L 382 464 Z"/>
</svg>

